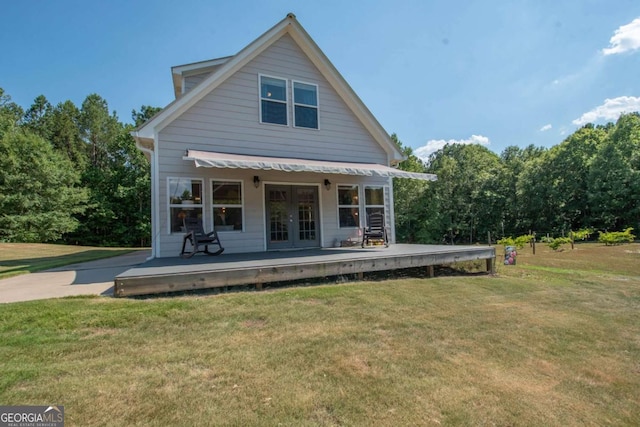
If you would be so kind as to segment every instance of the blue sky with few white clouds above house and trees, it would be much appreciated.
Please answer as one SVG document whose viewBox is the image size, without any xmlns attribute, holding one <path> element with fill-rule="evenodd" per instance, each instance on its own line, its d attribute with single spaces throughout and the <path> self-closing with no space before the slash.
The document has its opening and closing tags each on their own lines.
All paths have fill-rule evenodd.
<svg viewBox="0 0 640 427">
<path fill-rule="evenodd" d="M 550 147 L 640 110 L 638 0 L 4 2 L 0 87 L 24 108 L 97 93 L 130 121 L 171 102 L 171 66 L 235 54 L 288 12 L 423 155 Z"/>
</svg>

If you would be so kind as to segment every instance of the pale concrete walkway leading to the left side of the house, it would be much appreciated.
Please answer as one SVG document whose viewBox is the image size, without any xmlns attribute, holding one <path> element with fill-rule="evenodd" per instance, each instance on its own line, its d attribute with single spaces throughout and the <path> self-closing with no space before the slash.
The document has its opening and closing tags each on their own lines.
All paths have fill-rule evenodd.
<svg viewBox="0 0 640 427">
<path fill-rule="evenodd" d="M 70 295 L 113 295 L 114 278 L 143 263 L 151 251 L 72 264 L 0 280 L 0 303 Z"/>
</svg>

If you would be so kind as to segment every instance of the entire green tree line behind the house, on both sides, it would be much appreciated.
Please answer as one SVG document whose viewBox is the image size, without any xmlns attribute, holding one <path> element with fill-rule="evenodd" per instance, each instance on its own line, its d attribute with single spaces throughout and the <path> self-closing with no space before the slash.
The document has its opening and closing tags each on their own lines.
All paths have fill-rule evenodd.
<svg viewBox="0 0 640 427">
<path fill-rule="evenodd" d="M 160 109 L 110 113 L 38 96 L 28 109 L 0 88 L 0 241 L 146 246 L 149 162 L 130 135 Z M 397 240 L 475 243 L 529 231 L 640 228 L 640 114 L 576 130 L 546 149 L 447 145 L 427 161 L 398 144 L 400 167 L 436 182 L 394 180 Z"/>
</svg>

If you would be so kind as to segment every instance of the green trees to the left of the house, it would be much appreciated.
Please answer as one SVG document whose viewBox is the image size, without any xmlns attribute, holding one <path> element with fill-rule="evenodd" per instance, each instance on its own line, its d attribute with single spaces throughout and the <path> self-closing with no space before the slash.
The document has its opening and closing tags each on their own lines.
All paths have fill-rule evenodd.
<svg viewBox="0 0 640 427">
<path fill-rule="evenodd" d="M 26 110 L 0 88 L 0 241 L 147 246 L 149 162 L 97 94 L 81 106 L 43 95 Z"/>
</svg>

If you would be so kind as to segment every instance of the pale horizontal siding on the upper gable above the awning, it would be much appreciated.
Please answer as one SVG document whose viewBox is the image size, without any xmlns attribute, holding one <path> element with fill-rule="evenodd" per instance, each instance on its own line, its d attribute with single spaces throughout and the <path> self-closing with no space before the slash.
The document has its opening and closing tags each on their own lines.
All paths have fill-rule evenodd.
<svg viewBox="0 0 640 427">
<path fill-rule="evenodd" d="M 260 117 L 258 75 L 315 82 L 322 128 L 265 126 Z M 289 97 L 290 98 L 290 97 Z M 291 116 L 289 116 L 291 117 Z M 159 134 L 162 157 L 184 150 L 272 157 L 388 164 L 374 140 L 293 39 L 285 35 L 180 115 Z"/>
</svg>

